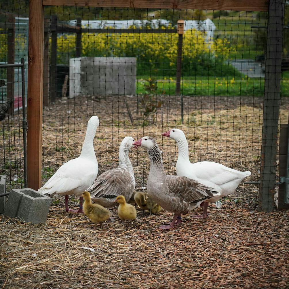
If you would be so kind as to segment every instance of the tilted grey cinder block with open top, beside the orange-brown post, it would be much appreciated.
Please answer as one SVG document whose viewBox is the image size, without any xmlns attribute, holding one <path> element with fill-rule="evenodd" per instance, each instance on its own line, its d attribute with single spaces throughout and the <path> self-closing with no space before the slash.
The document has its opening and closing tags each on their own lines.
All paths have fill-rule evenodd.
<svg viewBox="0 0 289 289">
<path fill-rule="evenodd" d="M 5 206 L 5 216 L 33 224 L 45 223 L 52 199 L 32 189 L 14 189 Z"/>
</svg>

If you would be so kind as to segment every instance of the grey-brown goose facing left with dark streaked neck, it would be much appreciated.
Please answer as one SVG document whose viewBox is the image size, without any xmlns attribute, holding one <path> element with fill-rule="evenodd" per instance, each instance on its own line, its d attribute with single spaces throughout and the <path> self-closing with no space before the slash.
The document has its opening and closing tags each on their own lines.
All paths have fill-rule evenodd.
<svg viewBox="0 0 289 289">
<path fill-rule="evenodd" d="M 151 161 L 147 192 L 149 196 L 164 210 L 175 213 L 170 225 L 163 225 L 160 229 L 171 229 L 179 225 L 182 214 L 197 208 L 204 200 L 214 197 L 213 188 L 200 184 L 187 177 L 167 175 L 164 171 L 161 151 L 155 140 L 144 136 L 133 143 L 147 151 Z"/>
</svg>

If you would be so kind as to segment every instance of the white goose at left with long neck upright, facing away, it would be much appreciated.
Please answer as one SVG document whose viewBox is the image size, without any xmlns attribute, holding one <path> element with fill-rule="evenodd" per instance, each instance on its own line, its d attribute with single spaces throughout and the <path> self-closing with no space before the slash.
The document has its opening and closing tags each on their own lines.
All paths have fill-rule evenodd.
<svg viewBox="0 0 289 289">
<path fill-rule="evenodd" d="M 98 163 L 93 147 L 93 139 L 98 126 L 98 117 L 92 116 L 87 123 L 86 135 L 80 156 L 63 164 L 45 185 L 38 190 L 41 194 L 53 194 L 56 192 L 57 194 L 65 195 L 66 212 L 83 212 L 83 198 L 80 196 L 97 177 Z M 79 197 L 79 210 L 68 208 L 68 195 L 71 194 Z"/>
</svg>

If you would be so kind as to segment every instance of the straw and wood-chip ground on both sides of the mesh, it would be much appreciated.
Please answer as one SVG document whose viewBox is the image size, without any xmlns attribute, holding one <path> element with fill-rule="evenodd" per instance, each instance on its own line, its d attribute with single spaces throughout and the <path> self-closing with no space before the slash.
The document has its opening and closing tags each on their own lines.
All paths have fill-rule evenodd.
<svg viewBox="0 0 289 289">
<path fill-rule="evenodd" d="M 162 105 L 153 108 L 159 101 Z M 123 137 L 150 135 L 163 151 L 166 171 L 174 174 L 177 148 L 161 133 L 178 127 L 188 138 L 192 162 L 221 162 L 250 170 L 247 181 L 259 180 L 262 99 L 184 97 L 183 124 L 180 98 L 158 96 L 143 105 L 141 97 L 127 97 L 127 105 L 134 124 L 121 96 L 46 104 L 43 183 L 63 162 L 80 154 L 92 115 L 100 118 L 94 142 L 99 173 L 117 166 Z M 149 116 L 144 109 L 152 110 Z M 280 123 L 286 121 L 285 101 Z M 6 161 L 1 170 L 7 172 L 8 186 L 19 187 L 13 179 L 23 174 L 21 129 L 14 131 L 8 120 L 3 124 L 1 157 L 6 154 Z M 9 145 L 12 136 L 15 146 Z M 132 150 L 130 158 L 137 189 L 146 187 L 147 155 Z M 241 184 L 221 209 L 210 205 L 208 219 L 192 219 L 193 212 L 171 231 L 157 229 L 172 217 L 169 212 L 141 218 L 139 211 L 136 225 L 128 222 L 123 229 L 115 209 L 114 221 L 92 231 L 86 216 L 64 212 L 63 198 L 54 195 L 44 225 L 0 216 L 0 283 L 2 288 L 288 288 L 288 211 L 257 212 L 258 191 L 256 185 Z M 78 200 L 70 197 L 70 202 L 77 207 Z"/>
</svg>

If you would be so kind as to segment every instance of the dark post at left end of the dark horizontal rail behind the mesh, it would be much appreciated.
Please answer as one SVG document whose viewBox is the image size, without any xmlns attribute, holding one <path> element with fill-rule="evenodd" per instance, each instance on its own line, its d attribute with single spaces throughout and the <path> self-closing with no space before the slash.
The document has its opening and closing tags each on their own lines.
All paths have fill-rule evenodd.
<svg viewBox="0 0 289 289">
<path fill-rule="evenodd" d="M 51 48 L 49 69 L 49 97 L 51 102 L 56 100 L 56 53 L 57 53 L 57 18 L 51 15 Z"/>
</svg>

